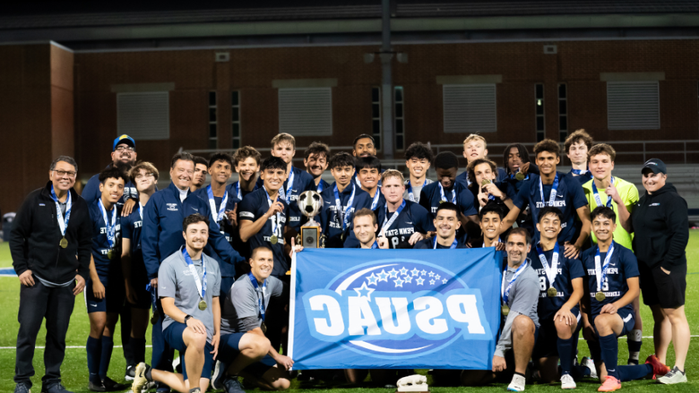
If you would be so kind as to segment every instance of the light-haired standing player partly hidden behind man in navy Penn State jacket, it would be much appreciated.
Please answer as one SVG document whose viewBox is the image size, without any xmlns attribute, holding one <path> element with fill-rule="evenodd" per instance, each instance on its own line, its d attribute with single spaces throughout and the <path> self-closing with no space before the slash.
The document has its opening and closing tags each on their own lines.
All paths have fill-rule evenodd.
<svg viewBox="0 0 699 393">
<path fill-rule="evenodd" d="M 155 193 L 158 175 L 158 169 L 150 162 L 142 161 L 131 168 L 129 178 L 138 190 L 138 207 L 125 218 L 121 218 L 121 269 L 124 273 L 126 302 L 131 309 L 129 342 L 136 364 L 145 362 L 145 333 L 149 322 L 148 311 L 151 309 L 151 293 L 146 290 L 151 280 L 148 279 L 141 251 L 143 209 Z M 124 320 L 121 323 L 125 323 Z M 126 370 L 130 377 L 127 380 L 134 380 L 135 371 L 135 366 Z"/>
</svg>

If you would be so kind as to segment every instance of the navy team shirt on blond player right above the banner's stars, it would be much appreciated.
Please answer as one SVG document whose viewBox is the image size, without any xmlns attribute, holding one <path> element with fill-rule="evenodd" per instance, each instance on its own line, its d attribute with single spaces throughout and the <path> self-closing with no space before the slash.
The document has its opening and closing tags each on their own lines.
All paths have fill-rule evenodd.
<svg viewBox="0 0 699 393">
<path fill-rule="evenodd" d="M 385 205 L 380 209 L 376 209 L 376 222 L 378 223 L 378 234 L 381 234 L 381 228 L 384 222 L 388 222 L 393 213 L 388 212 L 386 216 Z M 432 224 L 432 219 L 427 213 L 427 209 L 412 201 L 405 201 L 405 207 L 401 214 L 393 221 L 391 226 L 386 228 L 385 236 L 388 238 L 389 248 L 413 248 L 408 240 L 412 234 L 419 232 L 427 234 L 428 231 L 434 231 L 435 226 Z"/>
</svg>

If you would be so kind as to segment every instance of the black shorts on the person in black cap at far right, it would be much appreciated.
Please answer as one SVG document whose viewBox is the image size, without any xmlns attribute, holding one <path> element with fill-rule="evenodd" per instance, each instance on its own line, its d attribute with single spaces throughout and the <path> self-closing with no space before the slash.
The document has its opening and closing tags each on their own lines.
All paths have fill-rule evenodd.
<svg viewBox="0 0 699 393">
<path fill-rule="evenodd" d="M 638 269 L 645 305 L 659 304 L 662 308 L 685 305 L 686 263 L 673 266 L 670 274 L 662 271 L 660 265 L 651 269 L 643 262 L 638 262 Z"/>
</svg>

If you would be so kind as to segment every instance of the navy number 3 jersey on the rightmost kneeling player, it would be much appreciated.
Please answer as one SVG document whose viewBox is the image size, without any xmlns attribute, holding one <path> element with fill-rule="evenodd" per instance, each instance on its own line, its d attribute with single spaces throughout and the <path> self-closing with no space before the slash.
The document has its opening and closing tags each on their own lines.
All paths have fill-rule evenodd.
<svg viewBox="0 0 699 393">
<path fill-rule="evenodd" d="M 626 279 L 638 277 L 638 260 L 634 252 L 627 249 L 623 245 L 614 242 L 614 253 L 612 253 L 611 261 L 607 268 L 607 278 L 601 283 L 601 291 L 607 296 L 603 301 L 598 302 L 595 299 L 597 293 L 597 272 L 595 270 L 595 254 L 597 247 L 592 247 L 580 256 L 582 265 L 587 272 L 588 287 L 585 288 L 590 296 L 590 305 L 592 317 L 597 316 L 602 311 L 602 307 L 607 303 L 614 303 L 621 299 L 628 292 L 628 284 Z M 600 252 L 600 267 L 604 267 L 604 259 L 607 257 L 607 252 Z M 632 303 L 626 304 L 621 310 L 626 310 L 629 313 L 634 312 Z"/>
</svg>

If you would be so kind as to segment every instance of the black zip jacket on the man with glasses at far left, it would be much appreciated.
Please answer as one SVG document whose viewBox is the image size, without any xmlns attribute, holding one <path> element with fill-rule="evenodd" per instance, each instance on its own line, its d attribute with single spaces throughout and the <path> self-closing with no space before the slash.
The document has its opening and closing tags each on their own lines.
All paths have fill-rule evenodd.
<svg viewBox="0 0 699 393">
<path fill-rule="evenodd" d="M 10 252 L 17 275 L 30 269 L 32 274 L 56 284 L 80 274 L 90 277 L 92 224 L 85 200 L 71 189 L 73 208 L 65 231 L 68 247 L 61 248 L 61 230 L 56 220 L 56 202 L 51 198 L 51 182 L 27 195 L 13 222 Z"/>
</svg>

